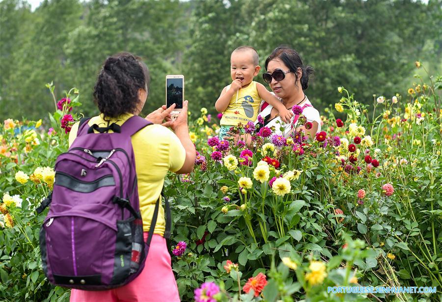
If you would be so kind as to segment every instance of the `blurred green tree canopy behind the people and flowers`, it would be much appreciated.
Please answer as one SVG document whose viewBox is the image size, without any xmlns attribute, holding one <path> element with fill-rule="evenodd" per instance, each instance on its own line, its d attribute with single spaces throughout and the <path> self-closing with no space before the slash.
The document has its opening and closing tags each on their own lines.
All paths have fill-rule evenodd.
<svg viewBox="0 0 442 302">
<path fill-rule="evenodd" d="M 144 112 L 165 103 L 166 74 L 185 76 L 191 110 L 214 112 L 231 82 L 230 53 L 254 47 L 265 58 L 292 46 L 315 70 L 306 91 L 319 109 L 334 103 L 337 86 L 362 103 L 372 94 L 405 92 L 415 60 L 441 72 L 441 0 L 24 0 L 0 3 L 0 118 L 41 118 L 56 94 L 80 90 L 86 115 L 96 114 L 92 91 L 107 56 L 143 57 L 150 70 Z M 255 78 L 262 82 L 261 74 Z M 268 87 L 268 86 L 267 86 Z M 392 91 L 401 87 L 403 91 Z M 270 88 L 269 88 L 270 89 Z"/>
</svg>

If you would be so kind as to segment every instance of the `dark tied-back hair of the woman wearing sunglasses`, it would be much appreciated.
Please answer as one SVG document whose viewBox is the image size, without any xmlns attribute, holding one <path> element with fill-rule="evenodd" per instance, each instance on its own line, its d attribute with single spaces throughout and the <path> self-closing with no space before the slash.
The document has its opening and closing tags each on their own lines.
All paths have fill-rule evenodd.
<svg viewBox="0 0 442 302">
<path fill-rule="evenodd" d="M 308 88 L 308 77 L 313 74 L 314 70 L 311 66 L 304 66 L 301 56 L 297 51 L 288 46 L 278 46 L 272 52 L 271 55 L 266 59 L 266 71 L 269 62 L 275 58 L 280 58 L 284 64 L 290 68 L 290 70 L 295 74 L 296 82 L 298 82 L 298 68 L 301 68 L 303 75 L 301 77 L 301 87 L 303 90 Z M 296 84 L 295 82 L 295 84 Z"/>
</svg>

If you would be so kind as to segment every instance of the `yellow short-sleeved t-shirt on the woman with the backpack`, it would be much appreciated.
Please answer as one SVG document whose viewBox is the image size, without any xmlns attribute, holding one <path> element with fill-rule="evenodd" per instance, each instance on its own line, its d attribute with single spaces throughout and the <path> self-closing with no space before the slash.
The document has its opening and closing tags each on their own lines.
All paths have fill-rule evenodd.
<svg viewBox="0 0 442 302">
<path fill-rule="evenodd" d="M 117 119 L 111 119 L 110 124 L 116 122 L 121 125 L 133 114 L 127 113 Z M 107 127 L 108 121 L 103 119 L 103 114 L 92 117 L 88 125 L 97 124 Z M 69 134 L 69 146 L 77 137 L 78 123 Z M 138 179 L 139 208 L 143 219 L 143 230 L 148 232 L 152 221 L 155 203 L 161 195 L 164 178 L 167 171 L 176 172 L 184 165 L 186 150 L 179 138 L 169 129 L 161 125 L 149 125 L 132 136 L 134 148 L 135 167 Z M 161 205 L 154 234 L 164 236 L 166 220 L 164 209 Z"/>
</svg>

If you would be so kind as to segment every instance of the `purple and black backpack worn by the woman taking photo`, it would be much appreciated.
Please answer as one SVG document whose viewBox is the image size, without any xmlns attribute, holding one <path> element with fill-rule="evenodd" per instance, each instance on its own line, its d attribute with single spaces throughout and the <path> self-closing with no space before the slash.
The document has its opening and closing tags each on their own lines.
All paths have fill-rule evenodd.
<svg viewBox="0 0 442 302">
<path fill-rule="evenodd" d="M 41 213 L 51 204 L 40 230 L 40 252 L 51 283 L 106 290 L 135 279 L 149 251 L 159 199 L 144 242 L 131 136 L 152 123 L 133 116 L 121 127 L 88 127 L 87 120 L 80 122 L 68 152 L 58 156 L 54 190 L 37 208 Z M 166 198 L 165 203 L 168 239 Z"/>
</svg>

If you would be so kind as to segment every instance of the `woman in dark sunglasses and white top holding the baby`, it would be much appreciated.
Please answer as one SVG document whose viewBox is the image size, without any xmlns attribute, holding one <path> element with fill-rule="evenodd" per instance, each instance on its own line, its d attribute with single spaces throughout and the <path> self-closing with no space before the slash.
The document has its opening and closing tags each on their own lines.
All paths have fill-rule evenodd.
<svg viewBox="0 0 442 302">
<path fill-rule="evenodd" d="M 307 121 L 312 123 L 311 129 L 304 126 L 298 127 L 299 114 L 292 117 L 292 123 L 284 124 L 279 118 L 278 111 L 266 103 L 262 106 L 260 116 L 264 124 L 257 123 L 258 128 L 275 126 L 276 134 L 288 137 L 293 129 L 303 129 L 311 137 L 321 131 L 321 118 L 308 100 L 304 90 L 308 87 L 308 77 L 313 73 L 310 66 L 304 66 L 300 55 L 289 47 L 279 46 L 266 59 L 266 73 L 262 75 L 265 82 L 270 85 L 275 95 L 282 100 L 288 109 L 297 105 L 301 107 L 302 114 Z M 299 109 L 298 109 L 299 110 Z M 259 118 L 259 120 L 261 120 Z M 280 130 L 281 126 L 283 131 Z"/>
</svg>

